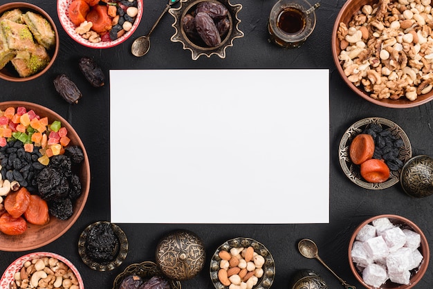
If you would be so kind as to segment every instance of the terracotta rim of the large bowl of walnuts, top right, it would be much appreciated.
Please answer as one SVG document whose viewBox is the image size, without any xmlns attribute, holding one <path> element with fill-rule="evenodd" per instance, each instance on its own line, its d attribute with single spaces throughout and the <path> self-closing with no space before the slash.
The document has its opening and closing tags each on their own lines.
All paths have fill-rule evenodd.
<svg viewBox="0 0 433 289">
<path fill-rule="evenodd" d="M 342 64 L 340 64 L 340 59 L 338 59 L 338 55 L 340 55 L 340 40 L 337 37 L 338 27 L 340 22 L 346 24 L 349 27 L 349 21 L 353 18 L 353 15 L 356 15 L 361 9 L 362 6 L 369 4 L 373 6 L 374 3 L 378 3 L 377 0 L 348 0 L 342 6 L 340 12 L 338 13 L 337 18 L 335 19 L 335 24 L 333 26 L 332 32 L 332 55 L 335 66 L 338 69 L 338 73 L 340 73 L 342 79 L 346 84 L 360 97 L 365 100 L 372 102 L 374 104 L 378 104 L 380 106 L 385 106 L 394 109 L 405 109 L 409 107 L 418 106 L 421 104 L 425 104 L 426 102 L 430 102 L 433 99 L 433 90 L 424 95 L 418 95 L 416 100 L 411 101 L 408 100 L 404 95 L 400 97 L 398 100 L 391 99 L 374 99 L 370 97 L 369 93 L 363 90 L 360 86 L 356 86 L 352 82 L 349 81 L 348 77 L 344 74 L 344 69 L 342 68 Z"/>
</svg>

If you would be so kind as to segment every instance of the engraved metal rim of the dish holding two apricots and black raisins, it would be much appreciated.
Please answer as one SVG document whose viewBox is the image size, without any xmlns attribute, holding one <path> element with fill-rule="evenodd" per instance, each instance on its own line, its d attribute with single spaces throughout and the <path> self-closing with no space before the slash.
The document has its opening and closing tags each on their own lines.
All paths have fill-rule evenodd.
<svg viewBox="0 0 433 289">
<path fill-rule="evenodd" d="M 352 124 L 342 136 L 340 145 L 338 147 L 340 166 L 349 180 L 351 180 L 353 183 L 356 183 L 356 185 L 359 185 L 365 189 L 386 189 L 387 187 L 391 187 L 392 185 L 398 183 L 398 180 L 400 180 L 401 169 L 398 171 L 391 171 L 389 179 L 384 183 L 368 183 L 361 177 L 360 166 L 354 165 L 349 157 L 349 147 L 351 141 L 356 135 L 364 131 L 369 124 L 378 124 L 383 127 L 383 129 L 391 131 L 394 136 L 403 140 L 404 145 L 400 148 L 400 154 L 398 156 L 401 161 L 405 163 L 407 160 L 409 160 L 409 158 L 412 157 L 412 147 L 410 146 L 409 138 L 403 129 L 401 129 L 397 124 L 385 118 L 365 118 Z"/>
</svg>

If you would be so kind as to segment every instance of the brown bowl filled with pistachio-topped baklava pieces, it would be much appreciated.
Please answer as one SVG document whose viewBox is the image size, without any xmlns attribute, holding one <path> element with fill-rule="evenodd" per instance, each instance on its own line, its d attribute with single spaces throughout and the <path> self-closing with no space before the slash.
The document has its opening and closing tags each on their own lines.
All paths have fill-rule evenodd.
<svg viewBox="0 0 433 289">
<path fill-rule="evenodd" d="M 55 22 L 45 10 L 25 2 L 3 4 L 0 26 L 3 27 L 0 29 L 0 77 L 3 80 L 26 82 L 50 69 L 59 51 L 59 35 Z M 27 37 L 12 41 L 14 35 Z"/>
</svg>

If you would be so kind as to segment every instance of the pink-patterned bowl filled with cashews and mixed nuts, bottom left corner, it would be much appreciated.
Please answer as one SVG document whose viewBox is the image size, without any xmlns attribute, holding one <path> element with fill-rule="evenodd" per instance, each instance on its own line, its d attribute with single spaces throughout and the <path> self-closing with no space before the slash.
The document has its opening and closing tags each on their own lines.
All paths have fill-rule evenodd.
<svg viewBox="0 0 433 289">
<path fill-rule="evenodd" d="M 37 260 L 42 260 L 42 264 L 36 265 Z M 26 266 L 29 263 L 32 263 L 32 261 L 34 263 L 34 267 L 40 270 L 35 270 L 35 272 L 28 274 L 28 276 L 25 278 L 25 282 L 29 282 L 29 288 L 31 286 L 31 282 L 36 283 L 37 281 L 41 281 L 41 279 L 48 280 L 51 275 L 53 275 L 54 283 L 57 278 L 55 272 L 57 272 L 57 270 L 66 270 L 66 275 L 68 275 L 68 277 L 62 277 L 63 274 L 60 274 L 59 272 L 59 274 L 57 275 L 59 275 L 62 279 L 57 278 L 57 282 L 66 282 L 69 285 L 68 288 L 71 289 L 84 289 L 84 282 L 82 280 L 80 272 L 78 272 L 77 268 L 75 268 L 75 265 L 73 265 L 73 263 L 71 263 L 71 261 L 69 261 L 65 257 L 51 252 L 30 253 L 19 257 L 17 260 L 13 261 L 9 265 L 9 267 L 6 268 L 5 272 L 3 272 L 3 276 L 0 280 L 0 288 L 15 288 L 14 286 L 10 286 L 12 281 L 15 281 L 18 278 L 17 275 L 20 275 L 21 268 L 26 268 Z M 65 268 L 64 265 L 66 265 L 67 268 Z M 36 272 L 43 273 L 39 275 L 39 273 Z M 48 274 L 46 272 L 48 272 Z M 33 275 L 35 275 L 35 277 L 33 277 Z M 19 288 L 19 286 L 17 286 L 17 288 Z"/>
</svg>

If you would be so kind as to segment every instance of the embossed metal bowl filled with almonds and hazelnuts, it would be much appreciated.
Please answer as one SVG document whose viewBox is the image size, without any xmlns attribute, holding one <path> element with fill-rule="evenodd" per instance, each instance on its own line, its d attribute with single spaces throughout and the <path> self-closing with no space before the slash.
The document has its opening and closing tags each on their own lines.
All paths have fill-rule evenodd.
<svg viewBox="0 0 433 289">
<path fill-rule="evenodd" d="M 238 237 L 216 249 L 210 260 L 210 278 L 216 289 L 226 289 L 231 284 L 268 289 L 275 278 L 275 262 L 263 244 Z"/>
</svg>

